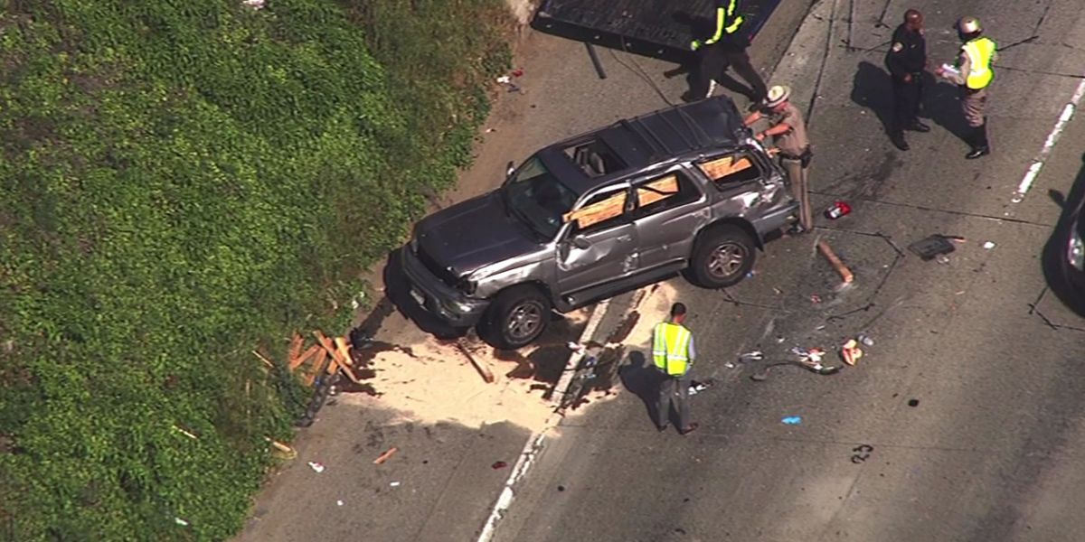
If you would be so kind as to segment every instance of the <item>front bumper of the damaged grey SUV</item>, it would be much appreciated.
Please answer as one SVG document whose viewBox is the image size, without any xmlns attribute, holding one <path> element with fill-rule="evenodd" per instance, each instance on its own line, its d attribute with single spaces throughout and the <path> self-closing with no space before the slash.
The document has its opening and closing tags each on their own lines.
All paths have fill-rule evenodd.
<svg viewBox="0 0 1085 542">
<path fill-rule="evenodd" d="M 489 300 L 474 299 L 456 289 L 418 259 L 410 246 L 403 247 L 403 271 L 413 301 L 454 327 L 471 327 L 482 320 Z"/>
</svg>

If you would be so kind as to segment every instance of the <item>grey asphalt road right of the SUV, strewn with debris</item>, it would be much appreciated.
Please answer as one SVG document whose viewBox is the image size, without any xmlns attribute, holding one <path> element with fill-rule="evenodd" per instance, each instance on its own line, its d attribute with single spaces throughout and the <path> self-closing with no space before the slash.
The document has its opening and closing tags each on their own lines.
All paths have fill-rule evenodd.
<svg viewBox="0 0 1085 542">
<path fill-rule="evenodd" d="M 927 14 L 932 64 L 953 57 L 949 27 L 961 14 L 1013 44 L 993 87 L 991 156 L 963 159 L 954 89 L 933 80 L 924 116 L 934 130 L 909 134 L 907 153 L 884 137 L 884 43 L 909 7 Z M 1060 194 L 1085 182 L 1085 119 L 1069 121 L 1031 190 L 1012 202 L 1082 81 L 1082 43 L 1075 0 L 819 2 L 774 81 L 793 85 L 810 111 L 816 208 L 846 199 L 853 212 L 771 243 L 735 288 L 671 281 L 693 313 L 697 372 L 719 379 L 693 398 L 701 428 L 658 433 L 628 391 L 566 421 L 518 486 L 495 540 L 1085 540 L 1076 504 L 1085 502 L 1076 447 L 1085 320 L 1052 294 L 1042 258 Z M 548 85 L 585 77 L 576 74 L 589 73 L 586 62 L 574 59 Z M 653 79 L 662 72 L 640 62 Z M 599 108 L 641 85 L 597 81 Z M 932 233 L 967 241 L 946 262 L 907 250 Z M 852 288 L 834 288 L 817 238 L 852 267 Z M 837 375 L 784 366 L 756 383 L 749 376 L 764 363 L 725 365 L 752 349 L 787 360 L 796 345 L 834 360 L 832 349 L 859 332 L 876 344 Z"/>
</svg>

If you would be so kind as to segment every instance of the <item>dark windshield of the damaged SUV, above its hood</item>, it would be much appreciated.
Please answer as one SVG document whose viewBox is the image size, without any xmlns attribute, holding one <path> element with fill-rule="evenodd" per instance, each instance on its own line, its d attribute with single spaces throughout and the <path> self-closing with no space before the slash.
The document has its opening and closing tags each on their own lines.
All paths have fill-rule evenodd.
<svg viewBox="0 0 1085 542">
<path fill-rule="evenodd" d="M 562 215 L 576 203 L 576 194 L 559 182 L 538 156 L 528 158 L 501 193 L 509 212 L 548 240 L 557 235 Z"/>
</svg>

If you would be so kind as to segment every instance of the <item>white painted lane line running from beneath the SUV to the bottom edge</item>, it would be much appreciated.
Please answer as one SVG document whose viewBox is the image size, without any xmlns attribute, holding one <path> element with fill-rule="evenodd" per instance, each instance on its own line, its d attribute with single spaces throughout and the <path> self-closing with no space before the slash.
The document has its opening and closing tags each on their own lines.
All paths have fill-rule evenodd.
<svg viewBox="0 0 1085 542">
<path fill-rule="evenodd" d="M 599 327 L 599 323 L 602 322 L 603 315 L 607 314 L 607 308 L 610 307 L 610 299 L 603 299 L 602 301 L 596 304 L 595 309 L 591 310 L 591 315 L 588 317 L 588 322 L 584 325 L 584 331 L 580 333 L 580 337 L 577 344 L 584 344 L 596 333 Z M 569 360 L 565 362 L 565 371 L 561 373 L 561 378 L 558 384 L 554 385 L 553 391 L 554 396 L 561 397 L 564 395 L 564 390 L 569 388 L 569 382 L 573 377 L 573 369 L 580 362 L 580 358 L 584 357 L 584 351 L 586 349 L 582 348 L 577 351 L 570 353 Z M 559 395 L 559 390 L 562 390 Z M 560 399 L 559 399 L 560 401 Z M 520 452 L 520 459 L 516 460 L 516 465 L 512 467 L 512 473 L 509 474 L 509 479 L 505 480 L 505 489 L 501 490 L 500 496 L 497 498 L 497 502 L 494 503 L 494 509 L 489 512 L 489 517 L 486 518 L 486 524 L 482 528 L 482 532 L 478 534 L 477 542 L 489 542 L 494 538 L 494 532 L 497 529 L 498 521 L 505 517 L 505 514 L 512 506 L 512 501 L 516 498 L 516 491 L 513 489 L 527 470 L 535 463 L 535 457 L 540 451 L 542 451 L 542 440 L 546 437 L 546 431 L 552 429 L 561 421 L 561 415 L 558 413 L 551 414 L 547 418 L 542 428 L 538 433 L 532 435 L 527 438 L 527 442 L 524 443 L 524 449 Z"/>
</svg>

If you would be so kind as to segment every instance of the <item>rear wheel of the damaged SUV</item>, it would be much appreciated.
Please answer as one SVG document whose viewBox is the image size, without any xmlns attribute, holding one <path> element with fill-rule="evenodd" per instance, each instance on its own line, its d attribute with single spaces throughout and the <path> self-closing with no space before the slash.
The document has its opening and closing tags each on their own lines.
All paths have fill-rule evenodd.
<svg viewBox="0 0 1085 542">
<path fill-rule="evenodd" d="M 686 276 L 705 288 L 733 286 L 753 269 L 757 258 L 750 235 L 735 225 L 719 225 L 698 236 Z"/>
</svg>

